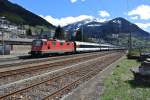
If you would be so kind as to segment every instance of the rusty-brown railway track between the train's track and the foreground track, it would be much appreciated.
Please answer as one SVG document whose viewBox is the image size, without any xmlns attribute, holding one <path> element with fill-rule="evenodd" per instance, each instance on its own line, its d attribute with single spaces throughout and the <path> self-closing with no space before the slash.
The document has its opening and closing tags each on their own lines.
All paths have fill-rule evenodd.
<svg viewBox="0 0 150 100">
<path fill-rule="evenodd" d="M 40 65 L 34 65 L 30 67 L 24 67 L 21 69 L 16 70 L 9 70 L 4 71 L 0 73 L 0 85 L 12 83 L 21 79 L 29 78 L 32 76 L 36 76 L 45 72 L 48 72 L 49 70 L 53 69 L 59 69 L 62 68 L 62 66 L 69 65 L 69 64 L 75 64 L 78 62 L 82 62 L 88 59 L 92 59 L 95 57 L 103 56 L 106 53 L 96 53 L 96 54 L 90 54 L 90 55 L 82 55 L 79 57 L 73 57 L 73 58 L 67 58 L 59 61 L 53 61 L 48 63 L 42 63 Z"/>
</svg>

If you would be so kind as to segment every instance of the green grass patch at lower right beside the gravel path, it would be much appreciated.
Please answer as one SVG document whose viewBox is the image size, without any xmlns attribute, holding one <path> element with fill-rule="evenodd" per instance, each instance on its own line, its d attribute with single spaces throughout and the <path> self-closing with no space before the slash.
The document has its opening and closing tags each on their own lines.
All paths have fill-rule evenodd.
<svg viewBox="0 0 150 100">
<path fill-rule="evenodd" d="M 139 64 L 136 60 L 123 59 L 105 79 L 101 100 L 150 100 L 150 88 L 137 85 L 130 72 L 131 67 Z"/>
</svg>

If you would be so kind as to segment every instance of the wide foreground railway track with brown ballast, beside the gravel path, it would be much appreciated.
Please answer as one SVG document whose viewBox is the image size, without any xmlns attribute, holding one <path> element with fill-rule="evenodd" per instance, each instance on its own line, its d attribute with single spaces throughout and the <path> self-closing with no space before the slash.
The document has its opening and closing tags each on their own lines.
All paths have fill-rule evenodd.
<svg viewBox="0 0 150 100">
<path fill-rule="evenodd" d="M 32 84 L 15 84 L 14 86 L 0 88 L 0 91 L 3 91 L 3 93 L 0 93 L 0 99 L 59 99 L 79 84 L 99 73 L 103 68 L 120 58 L 120 56 L 120 53 L 108 53 L 100 57 L 95 56 L 95 58 L 86 59 L 87 61 L 84 61 L 84 63 L 78 64 L 78 67 L 67 67 L 59 70 L 57 74 L 51 73 L 51 75 L 46 75 L 44 78 L 32 80 L 30 82 Z"/>
</svg>

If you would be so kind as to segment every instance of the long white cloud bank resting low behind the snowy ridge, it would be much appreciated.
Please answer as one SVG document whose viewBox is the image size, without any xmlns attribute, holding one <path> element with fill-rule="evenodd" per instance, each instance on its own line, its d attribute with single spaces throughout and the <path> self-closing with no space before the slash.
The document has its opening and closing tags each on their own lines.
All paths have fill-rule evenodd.
<svg viewBox="0 0 150 100">
<path fill-rule="evenodd" d="M 52 16 L 42 16 L 42 15 L 40 15 L 40 16 L 55 26 L 58 26 L 58 25 L 66 26 L 68 24 L 72 24 L 72 23 L 82 21 L 85 19 L 91 19 L 91 20 L 94 19 L 93 16 L 89 16 L 89 15 L 80 15 L 80 16 L 76 16 L 76 17 L 69 16 L 69 17 L 64 17 L 64 18 L 60 18 L 60 19 L 53 18 Z"/>
</svg>

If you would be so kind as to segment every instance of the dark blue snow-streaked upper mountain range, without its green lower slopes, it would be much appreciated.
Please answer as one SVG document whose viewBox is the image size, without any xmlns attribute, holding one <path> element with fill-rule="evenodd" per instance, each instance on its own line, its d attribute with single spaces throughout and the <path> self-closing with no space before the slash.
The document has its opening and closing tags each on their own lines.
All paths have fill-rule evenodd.
<svg viewBox="0 0 150 100">
<path fill-rule="evenodd" d="M 83 25 L 84 33 L 87 35 L 99 35 L 106 37 L 106 35 L 118 34 L 119 33 L 130 33 L 138 37 L 149 37 L 150 33 L 142 30 L 137 25 L 129 22 L 128 20 L 118 17 L 106 22 L 98 22 L 96 20 L 93 21 L 80 21 L 73 24 L 69 24 L 64 27 L 66 30 L 76 30 L 80 29 Z"/>
</svg>

